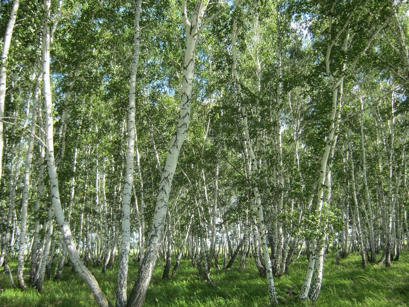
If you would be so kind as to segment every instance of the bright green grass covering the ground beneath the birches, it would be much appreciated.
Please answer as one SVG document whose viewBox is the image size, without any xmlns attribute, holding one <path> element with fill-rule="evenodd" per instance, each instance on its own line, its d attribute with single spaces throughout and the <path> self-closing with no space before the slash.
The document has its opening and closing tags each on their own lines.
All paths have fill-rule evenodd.
<svg viewBox="0 0 409 307">
<path fill-rule="evenodd" d="M 11 262 L 11 269 L 17 263 Z M 342 259 L 340 265 L 329 254 L 324 264 L 324 280 L 321 294 L 315 302 L 297 299 L 301 288 L 307 261 L 300 257 L 290 265 L 288 274 L 275 278 L 277 296 L 282 306 L 315 307 L 403 307 L 409 306 L 409 254 L 400 255 L 391 268 L 384 265 L 368 264 L 363 269 L 360 255 L 353 254 Z M 26 265 L 27 267 L 27 265 Z M 178 273 L 170 280 L 162 280 L 162 266 L 157 264 L 146 294 L 145 307 L 261 307 L 268 306 L 266 280 L 258 276 L 252 258 L 247 260 L 245 270 L 237 269 L 238 261 L 227 271 L 212 270 L 210 277 L 216 284 L 198 280 L 197 270 L 187 260 L 181 263 Z M 116 271 L 104 275 L 101 268 L 91 268 L 108 299 L 115 305 Z M 128 290 L 132 289 L 137 273 L 137 263 L 131 260 Z M 25 274 L 28 269 L 25 269 Z M 15 277 L 16 271 L 13 271 Z M 287 291 L 294 291 L 294 296 Z M 72 307 L 97 306 L 94 298 L 71 267 L 66 267 L 61 280 L 45 280 L 44 290 L 38 293 L 31 287 L 27 291 L 11 289 L 8 275 L 0 272 L 1 307 Z"/>
</svg>

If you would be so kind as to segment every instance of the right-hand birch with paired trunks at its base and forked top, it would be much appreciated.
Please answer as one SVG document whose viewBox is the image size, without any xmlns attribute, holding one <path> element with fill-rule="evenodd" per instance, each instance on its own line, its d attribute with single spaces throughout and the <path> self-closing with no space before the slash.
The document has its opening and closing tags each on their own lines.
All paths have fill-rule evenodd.
<svg viewBox="0 0 409 307">
<path fill-rule="evenodd" d="M 317 202 L 313 208 L 315 212 L 315 217 L 319 222 L 321 222 L 321 210 L 324 205 L 324 194 L 325 194 L 325 180 L 327 176 L 327 165 L 328 157 L 331 149 L 333 148 L 334 140 L 337 138 L 337 126 L 341 118 L 341 104 L 343 95 L 343 84 L 346 74 L 355 70 L 358 61 L 366 53 L 366 51 L 371 46 L 374 39 L 378 34 L 388 25 L 391 19 L 389 4 L 384 5 L 381 11 L 381 15 L 378 18 L 382 18 L 380 23 L 371 25 L 369 36 L 360 37 L 360 33 L 353 29 L 353 25 L 356 25 L 364 18 L 363 14 L 367 9 L 374 9 L 373 3 L 370 0 L 366 1 L 356 1 L 348 4 L 349 13 L 346 16 L 342 16 L 341 20 L 337 20 L 335 14 L 337 8 L 337 1 L 332 2 L 329 9 L 329 14 L 326 24 L 326 54 L 325 54 L 325 73 L 328 77 L 328 83 L 331 87 L 332 102 L 331 102 L 331 112 L 329 116 L 329 126 L 328 134 L 326 135 L 324 153 L 321 157 L 321 165 L 319 170 L 319 179 L 317 184 Z M 389 8 L 389 11 L 388 11 Z M 388 14 L 389 13 L 389 14 Z M 322 14 L 322 13 L 320 13 Z M 386 16 L 385 16 L 386 15 Z M 368 16 L 368 18 L 370 18 Z M 354 50 L 355 44 L 360 41 L 363 47 L 359 47 Z M 335 50 L 333 49 L 335 45 L 338 45 L 344 54 L 351 53 L 351 58 L 346 59 L 341 58 L 341 61 L 337 61 L 334 58 Z M 340 97 L 338 97 L 340 95 Z M 330 197 L 330 195 L 329 195 Z M 321 230 L 325 229 L 325 225 L 320 226 Z M 306 271 L 306 277 L 304 279 L 303 287 L 301 288 L 299 298 L 305 300 L 308 296 L 312 301 L 316 300 L 321 289 L 322 282 L 322 269 L 323 269 L 323 258 L 324 258 L 324 237 L 319 238 L 315 236 L 312 242 L 312 253 L 310 255 L 310 260 L 308 263 L 308 268 Z M 318 253 L 318 254 L 317 254 Z M 310 283 L 313 276 L 313 268 L 316 266 L 315 270 L 315 280 L 312 288 L 310 289 Z"/>
</svg>

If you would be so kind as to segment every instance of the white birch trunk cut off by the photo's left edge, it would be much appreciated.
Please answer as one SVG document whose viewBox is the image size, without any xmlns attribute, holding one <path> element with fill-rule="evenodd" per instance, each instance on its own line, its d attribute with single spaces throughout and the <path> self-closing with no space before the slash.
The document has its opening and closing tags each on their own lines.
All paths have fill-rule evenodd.
<svg viewBox="0 0 409 307">
<path fill-rule="evenodd" d="M 6 98 L 7 88 L 7 56 L 9 55 L 11 36 L 13 34 L 14 25 L 16 23 L 18 5 L 20 1 L 14 0 L 11 7 L 9 22 L 7 23 L 6 32 L 4 34 L 3 50 L 0 63 L 0 180 L 3 173 L 3 149 L 4 149 L 4 124 L 2 118 L 4 116 L 4 100 Z"/>
</svg>

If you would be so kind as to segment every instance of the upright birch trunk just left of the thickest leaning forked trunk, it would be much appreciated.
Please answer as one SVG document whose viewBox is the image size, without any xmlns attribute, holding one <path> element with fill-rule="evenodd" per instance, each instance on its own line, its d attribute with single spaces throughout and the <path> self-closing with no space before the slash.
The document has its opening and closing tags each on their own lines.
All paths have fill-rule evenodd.
<svg viewBox="0 0 409 307">
<path fill-rule="evenodd" d="M 136 75 L 139 63 L 139 16 L 141 14 L 142 0 L 135 3 L 134 16 L 134 36 L 133 36 L 133 61 L 131 75 L 129 79 L 129 106 L 128 106 L 128 145 L 126 150 L 126 174 L 122 196 L 122 236 L 121 249 L 119 251 L 118 278 L 116 289 L 116 306 L 126 305 L 126 286 L 128 280 L 128 262 L 130 248 L 130 199 L 132 196 L 133 176 L 134 176 L 134 155 L 135 155 L 135 91 Z"/>
</svg>

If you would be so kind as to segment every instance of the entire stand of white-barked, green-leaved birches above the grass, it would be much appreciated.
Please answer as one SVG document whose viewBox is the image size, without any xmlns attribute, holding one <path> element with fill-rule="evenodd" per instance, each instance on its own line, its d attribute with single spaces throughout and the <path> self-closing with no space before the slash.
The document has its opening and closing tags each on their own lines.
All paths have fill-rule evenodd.
<svg viewBox="0 0 409 307">
<path fill-rule="evenodd" d="M 399 259 L 407 1 L 10 0 L 0 15 L 13 287 L 41 291 L 70 263 L 109 306 L 89 267 L 118 257 L 116 305 L 141 306 L 157 257 L 163 278 L 189 257 L 206 282 L 253 257 L 274 305 L 274 277 L 301 255 L 312 301 L 328 248 Z"/>
</svg>

